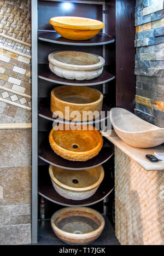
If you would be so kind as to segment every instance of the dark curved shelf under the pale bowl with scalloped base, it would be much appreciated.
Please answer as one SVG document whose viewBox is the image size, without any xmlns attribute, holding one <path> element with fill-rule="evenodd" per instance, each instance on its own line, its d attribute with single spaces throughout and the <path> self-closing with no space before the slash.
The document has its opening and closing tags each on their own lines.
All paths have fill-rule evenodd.
<svg viewBox="0 0 164 256">
<path fill-rule="evenodd" d="M 106 68 L 99 77 L 94 78 L 92 80 L 68 80 L 66 78 L 61 78 L 52 73 L 49 69 L 48 64 L 39 64 L 38 65 L 38 77 L 40 79 L 55 83 L 55 84 L 63 84 L 63 85 L 74 85 L 74 86 L 93 86 L 98 84 L 104 84 L 107 82 L 112 81 L 115 77 L 114 75 L 110 74 Z"/>
</svg>

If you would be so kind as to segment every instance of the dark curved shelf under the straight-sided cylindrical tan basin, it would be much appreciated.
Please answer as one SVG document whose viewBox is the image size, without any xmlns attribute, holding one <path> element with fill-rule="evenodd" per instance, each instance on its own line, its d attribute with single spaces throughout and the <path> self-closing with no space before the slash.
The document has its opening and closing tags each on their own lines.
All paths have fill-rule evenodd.
<svg viewBox="0 0 164 256">
<path fill-rule="evenodd" d="M 104 120 L 107 120 L 110 116 L 109 116 L 109 111 L 110 111 L 110 107 L 108 107 L 106 104 L 103 104 L 103 108 L 102 111 L 105 112 L 105 116 L 102 119 L 96 118 L 90 121 L 84 121 L 83 123 L 81 122 L 74 122 L 76 124 L 96 124 L 96 123 L 101 123 Z M 38 112 L 39 112 L 39 117 L 42 117 L 44 119 L 50 120 L 50 121 L 57 121 L 58 123 L 62 123 L 62 124 L 69 124 L 70 121 L 69 120 L 65 120 L 65 119 L 60 119 L 58 117 L 53 117 L 53 113 L 50 110 L 50 100 L 45 98 L 42 102 L 40 102 L 39 104 L 39 108 L 38 108 Z M 73 123 L 72 123 L 73 124 Z"/>
</svg>

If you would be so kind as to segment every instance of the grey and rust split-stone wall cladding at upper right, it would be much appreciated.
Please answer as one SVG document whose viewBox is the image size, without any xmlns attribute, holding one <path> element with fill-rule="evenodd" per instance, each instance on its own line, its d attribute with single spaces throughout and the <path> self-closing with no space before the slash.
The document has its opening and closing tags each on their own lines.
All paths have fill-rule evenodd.
<svg viewBox="0 0 164 256">
<path fill-rule="evenodd" d="M 164 127 L 163 0 L 136 1 L 136 109 L 142 119 Z"/>
</svg>

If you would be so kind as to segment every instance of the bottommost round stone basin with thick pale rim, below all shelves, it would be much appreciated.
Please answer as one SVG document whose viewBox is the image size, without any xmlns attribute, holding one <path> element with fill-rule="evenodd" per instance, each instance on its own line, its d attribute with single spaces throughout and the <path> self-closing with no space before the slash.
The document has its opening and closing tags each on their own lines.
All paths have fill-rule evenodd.
<svg viewBox="0 0 164 256">
<path fill-rule="evenodd" d="M 87 207 L 67 207 L 51 218 L 56 236 L 68 245 L 89 245 L 103 232 L 105 220 L 95 210 Z"/>
</svg>

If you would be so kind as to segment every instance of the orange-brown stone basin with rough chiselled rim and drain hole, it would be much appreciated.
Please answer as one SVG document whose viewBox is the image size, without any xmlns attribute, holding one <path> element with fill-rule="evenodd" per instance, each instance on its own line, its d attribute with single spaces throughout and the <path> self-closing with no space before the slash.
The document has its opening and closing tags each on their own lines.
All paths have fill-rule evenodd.
<svg viewBox="0 0 164 256">
<path fill-rule="evenodd" d="M 71 126 L 71 129 L 74 127 Z M 57 130 L 58 126 L 51 130 L 49 141 L 51 148 L 57 155 L 69 161 L 87 161 L 94 158 L 103 146 L 103 138 L 95 127 L 77 125 L 79 130 Z M 81 129 L 81 130 L 80 130 Z M 92 129 L 92 130 L 89 130 Z M 57 131 L 56 131 L 57 130 Z"/>
</svg>

